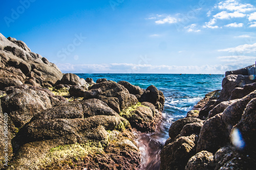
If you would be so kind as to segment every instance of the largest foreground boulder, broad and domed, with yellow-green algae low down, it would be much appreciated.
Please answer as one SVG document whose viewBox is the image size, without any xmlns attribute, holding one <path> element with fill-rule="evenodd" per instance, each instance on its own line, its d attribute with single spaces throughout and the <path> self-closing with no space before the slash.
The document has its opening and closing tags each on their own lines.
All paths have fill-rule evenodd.
<svg viewBox="0 0 256 170">
<path fill-rule="evenodd" d="M 97 99 L 57 105 L 19 130 L 8 169 L 136 169 L 140 152 L 127 128 L 126 119 Z"/>
</svg>

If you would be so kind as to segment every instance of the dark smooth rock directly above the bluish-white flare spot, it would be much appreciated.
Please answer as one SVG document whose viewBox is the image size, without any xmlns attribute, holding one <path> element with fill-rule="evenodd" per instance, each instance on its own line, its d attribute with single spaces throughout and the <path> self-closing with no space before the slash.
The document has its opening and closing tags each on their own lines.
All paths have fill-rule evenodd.
<svg viewBox="0 0 256 170">
<path fill-rule="evenodd" d="M 246 108 L 246 105 L 253 99 L 256 98 L 256 91 L 251 92 L 241 100 L 228 106 L 223 111 L 223 122 L 225 123 L 228 131 L 230 132 L 232 127 L 236 125 L 242 118 L 242 114 Z"/>
</svg>

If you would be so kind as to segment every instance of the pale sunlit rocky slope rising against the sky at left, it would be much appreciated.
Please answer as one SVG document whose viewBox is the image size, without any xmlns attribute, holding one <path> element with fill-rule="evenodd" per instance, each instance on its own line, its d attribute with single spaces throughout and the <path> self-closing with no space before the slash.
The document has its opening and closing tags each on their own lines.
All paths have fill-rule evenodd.
<svg viewBox="0 0 256 170">
<path fill-rule="evenodd" d="M 21 84 L 53 86 L 62 77 L 55 64 L 31 52 L 24 42 L 1 33 L 0 61 L 0 90 Z"/>
</svg>

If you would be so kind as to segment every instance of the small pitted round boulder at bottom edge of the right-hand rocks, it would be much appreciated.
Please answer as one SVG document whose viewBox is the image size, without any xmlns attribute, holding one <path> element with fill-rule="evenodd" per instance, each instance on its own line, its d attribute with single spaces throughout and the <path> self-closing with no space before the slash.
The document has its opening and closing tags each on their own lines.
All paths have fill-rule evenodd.
<svg viewBox="0 0 256 170">
<path fill-rule="evenodd" d="M 207 151 L 201 151 L 188 160 L 185 169 L 212 169 L 214 165 L 214 155 Z"/>
</svg>

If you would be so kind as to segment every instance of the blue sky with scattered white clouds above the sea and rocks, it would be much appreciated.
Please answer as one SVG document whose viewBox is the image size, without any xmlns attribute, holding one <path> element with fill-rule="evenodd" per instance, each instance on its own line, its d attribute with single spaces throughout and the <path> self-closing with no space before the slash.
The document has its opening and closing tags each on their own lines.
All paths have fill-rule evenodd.
<svg viewBox="0 0 256 170">
<path fill-rule="evenodd" d="M 223 74 L 255 63 L 256 2 L 2 1 L 0 32 L 74 73 Z"/>
</svg>

